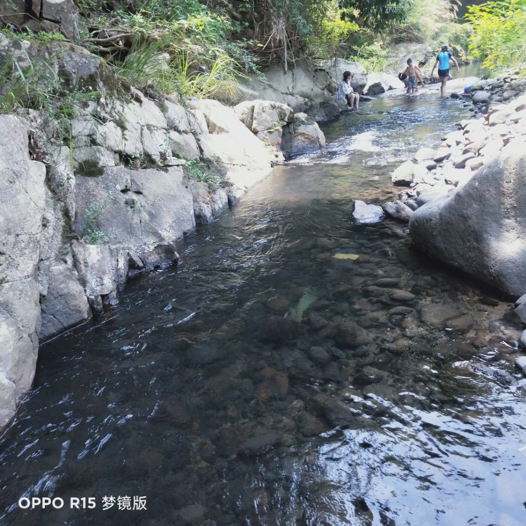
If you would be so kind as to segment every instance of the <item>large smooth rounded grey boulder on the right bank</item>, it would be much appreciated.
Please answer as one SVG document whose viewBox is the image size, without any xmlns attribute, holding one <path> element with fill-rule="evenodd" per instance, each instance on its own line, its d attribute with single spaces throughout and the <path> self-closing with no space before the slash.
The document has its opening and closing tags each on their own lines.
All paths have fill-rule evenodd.
<svg viewBox="0 0 526 526">
<path fill-rule="evenodd" d="M 526 292 L 526 152 L 510 143 L 460 189 L 412 216 L 424 251 L 514 297 Z"/>
</svg>

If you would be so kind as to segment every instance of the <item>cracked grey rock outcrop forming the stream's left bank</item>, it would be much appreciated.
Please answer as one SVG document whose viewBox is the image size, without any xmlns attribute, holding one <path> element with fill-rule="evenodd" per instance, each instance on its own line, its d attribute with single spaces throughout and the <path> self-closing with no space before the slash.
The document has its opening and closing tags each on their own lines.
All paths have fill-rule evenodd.
<svg viewBox="0 0 526 526">
<path fill-rule="evenodd" d="M 270 173 L 232 108 L 130 95 L 78 107 L 72 150 L 38 112 L 0 115 L 0 428 L 31 387 L 39 339 L 115 305 L 129 272 L 177 261 L 181 237 Z"/>
</svg>

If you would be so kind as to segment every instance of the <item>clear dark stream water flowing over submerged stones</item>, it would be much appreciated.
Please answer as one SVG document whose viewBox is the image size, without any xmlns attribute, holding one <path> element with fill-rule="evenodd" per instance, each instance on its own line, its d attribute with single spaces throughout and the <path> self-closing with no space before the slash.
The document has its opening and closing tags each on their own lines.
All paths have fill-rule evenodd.
<svg viewBox="0 0 526 526">
<path fill-rule="evenodd" d="M 483 304 L 491 291 L 400 225 L 350 221 L 352 199 L 392 196 L 400 160 L 467 115 L 437 86 L 362 104 L 324 126 L 326 151 L 181 241 L 182 265 L 42 346 L 0 445 L 0 524 L 526 524 L 519 328 L 494 321 L 508 304 Z M 474 328 L 424 323 L 427 304 Z M 103 511 L 108 495 L 145 495 L 147 511 Z M 21 510 L 22 496 L 66 505 Z"/>
</svg>

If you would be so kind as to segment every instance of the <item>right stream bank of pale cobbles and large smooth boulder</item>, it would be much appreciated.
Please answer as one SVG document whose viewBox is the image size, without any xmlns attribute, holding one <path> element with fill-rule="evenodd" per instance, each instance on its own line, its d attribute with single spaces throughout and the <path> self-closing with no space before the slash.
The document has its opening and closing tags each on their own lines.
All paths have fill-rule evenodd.
<svg viewBox="0 0 526 526">
<path fill-rule="evenodd" d="M 526 80 L 507 74 L 472 93 L 471 119 L 420 148 L 393 171 L 392 183 L 408 187 L 382 207 L 355 204 L 355 219 L 384 215 L 408 223 L 413 241 L 427 254 L 477 277 L 511 298 L 508 320 L 526 327 Z M 513 345 L 526 348 L 526 330 Z M 517 366 L 526 373 L 526 358 Z"/>
</svg>

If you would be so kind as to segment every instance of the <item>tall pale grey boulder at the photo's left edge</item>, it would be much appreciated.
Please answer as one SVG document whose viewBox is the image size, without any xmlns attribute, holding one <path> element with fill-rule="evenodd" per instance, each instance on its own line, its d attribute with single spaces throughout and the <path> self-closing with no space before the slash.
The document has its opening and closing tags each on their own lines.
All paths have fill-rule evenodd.
<svg viewBox="0 0 526 526">
<path fill-rule="evenodd" d="M 40 325 L 38 261 L 46 168 L 29 159 L 28 123 L 0 115 L 0 428 L 31 387 Z"/>
</svg>

